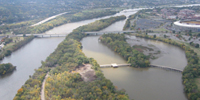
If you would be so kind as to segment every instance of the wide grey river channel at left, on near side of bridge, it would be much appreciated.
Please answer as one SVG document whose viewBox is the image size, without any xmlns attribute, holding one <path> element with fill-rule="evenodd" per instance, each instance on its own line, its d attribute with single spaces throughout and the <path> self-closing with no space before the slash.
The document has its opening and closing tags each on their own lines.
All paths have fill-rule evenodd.
<svg viewBox="0 0 200 100">
<path fill-rule="evenodd" d="M 12 100 L 17 90 L 26 82 L 29 75 L 33 75 L 34 69 L 41 66 L 64 38 L 36 38 L 24 47 L 5 57 L 1 63 L 12 63 L 17 70 L 12 74 L 0 77 L 1 100 Z"/>
</svg>

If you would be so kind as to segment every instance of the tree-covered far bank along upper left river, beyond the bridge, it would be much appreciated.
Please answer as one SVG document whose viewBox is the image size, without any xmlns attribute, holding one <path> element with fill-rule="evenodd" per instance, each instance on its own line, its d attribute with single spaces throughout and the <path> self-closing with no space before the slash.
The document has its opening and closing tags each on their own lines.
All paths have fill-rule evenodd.
<svg viewBox="0 0 200 100">
<path fill-rule="evenodd" d="M 99 11 L 92 10 L 92 11 L 68 13 L 35 27 L 24 27 L 22 29 L 15 30 L 14 33 L 15 34 L 44 33 L 50 29 L 53 29 L 54 27 L 57 27 L 66 23 L 113 15 L 115 13 L 117 12 L 111 11 L 111 10 L 99 10 Z"/>
</svg>

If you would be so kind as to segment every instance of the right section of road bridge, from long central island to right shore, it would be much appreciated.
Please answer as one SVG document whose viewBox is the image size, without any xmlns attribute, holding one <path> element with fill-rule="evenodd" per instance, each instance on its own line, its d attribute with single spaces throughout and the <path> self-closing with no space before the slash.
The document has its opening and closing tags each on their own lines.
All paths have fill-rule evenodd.
<svg viewBox="0 0 200 100">
<path fill-rule="evenodd" d="M 109 33 L 115 33 L 115 34 L 122 34 L 122 33 L 134 33 L 135 31 L 97 31 L 97 32 L 83 32 L 86 35 L 102 35 L 102 34 L 109 34 Z"/>
</svg>

